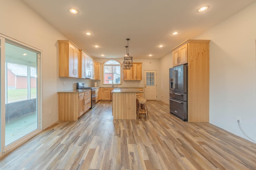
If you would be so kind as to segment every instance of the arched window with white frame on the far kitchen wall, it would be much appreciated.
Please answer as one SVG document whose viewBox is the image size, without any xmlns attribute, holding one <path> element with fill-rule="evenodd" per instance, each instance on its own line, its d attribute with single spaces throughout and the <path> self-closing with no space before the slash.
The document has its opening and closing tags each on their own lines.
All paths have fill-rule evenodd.
<svg viewBox="0 0 256 170">
<path fill-rule="evenodd" d="M 120 85 L 121 84 L 121 64 L 114 59 L 103 63 L 104 82 L 103 84 Z"/>
</svg>

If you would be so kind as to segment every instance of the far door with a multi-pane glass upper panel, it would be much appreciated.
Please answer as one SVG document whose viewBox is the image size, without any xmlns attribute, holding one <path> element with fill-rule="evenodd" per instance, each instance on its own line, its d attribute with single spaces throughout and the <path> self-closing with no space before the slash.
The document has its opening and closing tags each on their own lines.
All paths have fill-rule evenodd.
<svg viewBox="0 0 256 170">
<path fill-rule="evenodd" d="M 146 100 L 156 100 L 156 70 L 144 71 L 144 97 Z"/>
</svg>

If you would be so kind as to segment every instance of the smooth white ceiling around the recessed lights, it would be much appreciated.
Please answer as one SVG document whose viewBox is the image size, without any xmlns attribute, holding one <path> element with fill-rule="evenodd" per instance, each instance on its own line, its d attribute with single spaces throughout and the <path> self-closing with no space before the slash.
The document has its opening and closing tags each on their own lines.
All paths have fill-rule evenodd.
<svg viewBox="0 0 256 170">
<path fill-rule="evenodd" d="M 124 57 L 126 38 L 130 38 L 130 55 L 144 59 L 163 57 L 256 0 L 22 1 L 93 58 Z M 198 12 L 202 6 L 208 10 Z M 78 13 L 70 13 L 70 8 Z M 164 47 L 159 48 L 161 44 Z"/>
</svg>

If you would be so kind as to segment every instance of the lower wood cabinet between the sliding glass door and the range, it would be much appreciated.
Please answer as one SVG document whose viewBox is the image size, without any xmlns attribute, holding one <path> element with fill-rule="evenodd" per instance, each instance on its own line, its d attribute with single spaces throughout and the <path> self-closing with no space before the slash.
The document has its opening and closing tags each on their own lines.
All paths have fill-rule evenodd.
<svg viewBox="0 0 256 170">
<path fill-rule="evenodd" d="M 77 121 L 91 108 L 91 90 L 58 92 L 59 121 Z"/>
</svg>

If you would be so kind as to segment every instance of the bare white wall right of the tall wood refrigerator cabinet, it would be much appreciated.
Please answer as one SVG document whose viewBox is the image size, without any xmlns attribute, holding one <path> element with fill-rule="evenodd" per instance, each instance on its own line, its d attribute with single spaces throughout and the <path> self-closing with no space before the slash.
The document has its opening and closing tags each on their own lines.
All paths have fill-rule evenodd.
<svg viewBox="0 0 256 170">
<path fill-rule="evenodd" d="M 210 42 L 210 123 L 256 140 L 256 2 L 196 39 Z"/>
</svg>

